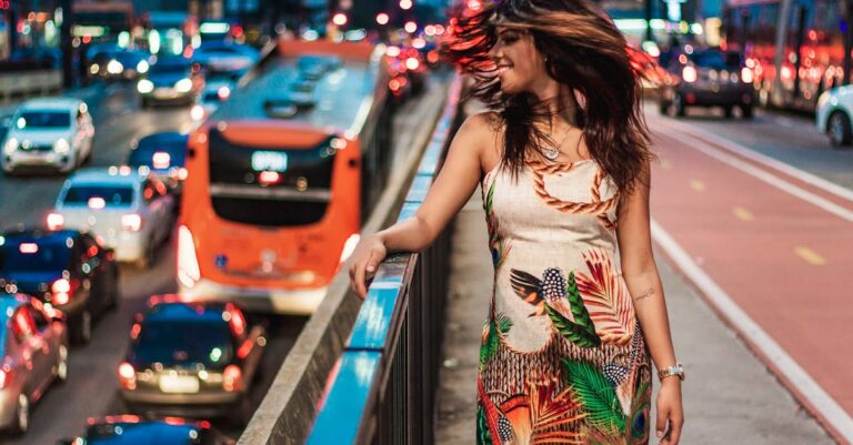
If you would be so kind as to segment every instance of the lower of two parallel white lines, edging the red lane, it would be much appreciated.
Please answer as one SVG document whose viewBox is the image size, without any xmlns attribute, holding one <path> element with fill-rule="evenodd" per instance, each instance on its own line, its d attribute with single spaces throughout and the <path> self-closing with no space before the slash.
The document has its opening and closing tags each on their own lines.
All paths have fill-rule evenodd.
<svg viewBox="0 0 853 445">
<path fill-rule="evenodd" d="M 810 204 L 814 204 L 845 221 L 853 222 L 853 211 L 847 210 L 845 208 L 842 208 L 841 205 L 823 198 L 819 196 L 810 191 L 803 190 L 783 179 L 780 179 L 779 176 L 775 176 L 764 170 L 759 169 L 755 165 L 752 165 L 747 163 L 746 161 L 743 161 L 741 159 L 735 158 L 732 154 L 726 153 L 723 150 L 715 149 L 711 146 L 708 142 L 695 138 L 690 134 L 683 134 L 683 138 L 681 138 L 685 142 L 693 142 L 686 143 L 684 145 L 690 146 L 693 150 L 696 150 L 701 153 L 704 153 L 711 158 L 716 159 L 717 161 L 724 162 L 737 170 L 743 171 L 744 173 L 751 174 L 755 176 L 756 179 L 766 182 L 767 184 L 783 191 L 787 192 L 791 195 L 794 195 Z"/>
</svg>

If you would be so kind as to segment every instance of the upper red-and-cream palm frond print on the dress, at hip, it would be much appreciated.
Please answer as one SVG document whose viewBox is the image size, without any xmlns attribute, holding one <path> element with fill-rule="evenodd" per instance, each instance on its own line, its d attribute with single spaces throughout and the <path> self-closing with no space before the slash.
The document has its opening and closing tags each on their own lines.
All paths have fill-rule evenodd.
<svg viewBox="0 0 853 445">
<path fill-rule="evenodd" d="M 583 254 L 589 275 L 579 273 L 578 290 L 604 344 L 625 345 L 634 334 L 634 305 L 608 254 L 593 249 Z"/>
</svg>

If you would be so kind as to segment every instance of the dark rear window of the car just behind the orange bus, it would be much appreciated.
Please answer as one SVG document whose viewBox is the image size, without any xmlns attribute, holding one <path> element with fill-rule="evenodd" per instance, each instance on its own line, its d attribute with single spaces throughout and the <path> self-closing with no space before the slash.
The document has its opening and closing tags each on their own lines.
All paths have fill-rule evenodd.
<svg viewBox="0 0 853 445">
<path fill-rule="evenodd" d="M 201 363 L 222 368 L 233 360 L 233 345 L 225 322 L 147 321 L 132 348 L 132 360 L 141 363 Z"/>
</svg>

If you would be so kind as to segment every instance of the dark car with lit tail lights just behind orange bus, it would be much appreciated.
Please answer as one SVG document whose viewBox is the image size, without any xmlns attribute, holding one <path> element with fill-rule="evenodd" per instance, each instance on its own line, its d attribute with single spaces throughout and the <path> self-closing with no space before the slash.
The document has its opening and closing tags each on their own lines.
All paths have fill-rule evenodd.
<svg viewBox="0 0 853 445">
<path fill-rule="evenodd" d="M 265 344 L 264 327 L 235 303 L 154 295 L 131 327 L 119 394 L 132 413 L 227 416 L 242 425 Z"/>
</svg>

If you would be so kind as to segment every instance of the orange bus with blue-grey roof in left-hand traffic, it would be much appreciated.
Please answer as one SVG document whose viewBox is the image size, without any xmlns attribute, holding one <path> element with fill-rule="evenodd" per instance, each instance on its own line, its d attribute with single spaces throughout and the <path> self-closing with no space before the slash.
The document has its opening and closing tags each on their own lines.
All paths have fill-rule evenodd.
<svg viewBox="0 0 853 445">
<path fill-rule="evenodd" d="M 185 300 L 317 309 L 390 170 L 384 60 L 369 43 L 281 42 L 190 135 L 177 249 Z"/>
</svg>

